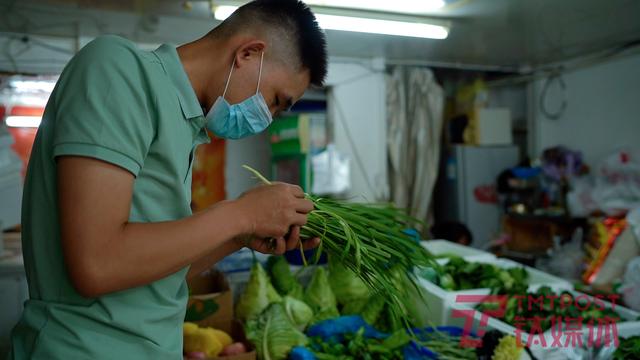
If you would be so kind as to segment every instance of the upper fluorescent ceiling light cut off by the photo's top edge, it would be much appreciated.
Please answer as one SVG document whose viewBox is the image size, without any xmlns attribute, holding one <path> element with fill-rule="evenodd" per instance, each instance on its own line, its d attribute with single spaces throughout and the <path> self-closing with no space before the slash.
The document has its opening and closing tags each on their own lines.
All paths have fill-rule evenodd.
<svg viewBox="0 0 640 360">
<path fill-rule="evenodd" d="M 440 9 L 444 0 L 304 0 L 309 5 L 420 14 Z"/>
</svg>

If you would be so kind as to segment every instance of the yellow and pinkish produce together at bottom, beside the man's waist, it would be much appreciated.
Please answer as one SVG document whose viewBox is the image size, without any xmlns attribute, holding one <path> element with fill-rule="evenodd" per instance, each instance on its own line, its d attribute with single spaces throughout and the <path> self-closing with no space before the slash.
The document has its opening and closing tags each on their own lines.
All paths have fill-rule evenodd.
<svg viewBox="0 0 640 360">
<path fill-rule="evenodd" d="M 182 328 L 184 354 L 187 359 L 208 359 L 247 352 L 241 342 L 234 342 L 229 334 L 212 327 L 199 327 L 185 322 Z"/>
</svg>

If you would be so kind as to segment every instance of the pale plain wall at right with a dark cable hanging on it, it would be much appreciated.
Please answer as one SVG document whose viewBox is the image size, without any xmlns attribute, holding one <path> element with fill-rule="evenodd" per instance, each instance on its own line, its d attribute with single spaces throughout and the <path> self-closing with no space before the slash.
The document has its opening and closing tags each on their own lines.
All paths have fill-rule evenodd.
<svg viewBox="0 0 640 360">
<path fill-rule="evenodd" d="M 640 147 L 640 55 L 568 72 L 563 78 L 564 95 L 556 84 L 545 99 L 550 110 L 566 100 L 566 111 L 557 120 L 540 112 L 544 80 L 530 85 L 536 155 L 562 144 L 582 151 L 587 163 L 595 165 L 616 148 Z"/>
</svg>

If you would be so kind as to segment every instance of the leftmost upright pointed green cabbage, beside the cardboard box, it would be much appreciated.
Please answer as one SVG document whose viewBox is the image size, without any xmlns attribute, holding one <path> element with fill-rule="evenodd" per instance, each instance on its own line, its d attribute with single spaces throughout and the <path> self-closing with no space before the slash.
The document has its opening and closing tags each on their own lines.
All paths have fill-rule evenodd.
<svg viewBox="0 0 640 360">
<path fill-rule="evenodd" d="M 251 267 L 249 282 L 238 299 L 236 316 L 240 320 L 251 319 L 260 315 L 269 304 L 280 301 L 282 298 L 271 285 L 262 265 L 255 262 Z"/>
</svg>

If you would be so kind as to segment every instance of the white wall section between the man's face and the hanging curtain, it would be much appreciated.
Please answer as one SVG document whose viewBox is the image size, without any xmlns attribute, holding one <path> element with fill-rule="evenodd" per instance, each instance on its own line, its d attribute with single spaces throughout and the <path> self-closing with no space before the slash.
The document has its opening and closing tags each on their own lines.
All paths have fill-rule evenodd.
<svg viewBox="0 0 640 360">
<path fill-rule="evenodd" d="M 355 201 L 386 200 L 386 83 L 382 59 L 333 59 L 329 66 L 328 120 L 336 148 L 349 156 Z"/>
</svg>

